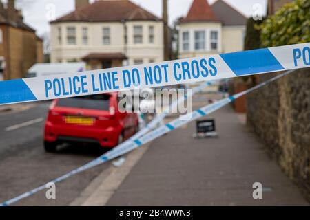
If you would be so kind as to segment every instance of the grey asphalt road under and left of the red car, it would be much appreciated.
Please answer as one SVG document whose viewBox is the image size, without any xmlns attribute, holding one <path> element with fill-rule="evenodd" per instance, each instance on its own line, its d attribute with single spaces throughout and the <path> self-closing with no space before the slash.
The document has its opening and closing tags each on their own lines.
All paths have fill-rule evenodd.
<svg viewBox="0 0 310 220">
<path fill-rule="evenodd" d="M 98 157 L 99 146 L 64 145 L 57 153 L 45 153 L 43 127 L 50 102 L 23 104 L 19 110 L 0 113 L 0 202 L 59 177 Z M 94 177 L 110 164 L 56 184 L 56 199 L 46 199 L 43 190 L 17 206 L 66 206 Z"/>
</svg>

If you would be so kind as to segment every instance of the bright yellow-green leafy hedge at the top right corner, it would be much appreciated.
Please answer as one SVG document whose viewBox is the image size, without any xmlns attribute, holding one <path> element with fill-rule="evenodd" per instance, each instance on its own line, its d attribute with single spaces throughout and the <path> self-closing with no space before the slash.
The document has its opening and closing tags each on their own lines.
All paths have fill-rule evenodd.
<svg viewBox="0 0 310 220">
<path fill-rule="evenodd" d="M 262 23 L 262 47 L 310 42 L 310 1 L 287 3 Z"/>
</svg>

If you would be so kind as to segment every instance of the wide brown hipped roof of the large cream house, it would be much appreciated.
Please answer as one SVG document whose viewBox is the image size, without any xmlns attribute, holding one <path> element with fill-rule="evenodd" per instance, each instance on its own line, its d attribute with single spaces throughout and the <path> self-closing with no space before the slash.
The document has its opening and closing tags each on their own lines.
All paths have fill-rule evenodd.
<svg viewBox="0 0 310 220">
<path fill-rule="evenodd" d="M 65 21 L 103 22 L 103 21 L 160 20 L 151 12 L 129 0 L 101 0 L 74 10 L 51 23 Z"/>
</svg>

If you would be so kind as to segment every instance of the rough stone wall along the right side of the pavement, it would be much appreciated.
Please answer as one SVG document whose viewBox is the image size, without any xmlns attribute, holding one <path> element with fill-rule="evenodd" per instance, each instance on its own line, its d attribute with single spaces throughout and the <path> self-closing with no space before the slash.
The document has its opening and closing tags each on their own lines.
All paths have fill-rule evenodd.
<svg viewBox="0 0 310 220">
<path fill-rule="evenodd" d="M 247 124 L 310 201 L 310 68 L 247 96 Z"/>
</svg>

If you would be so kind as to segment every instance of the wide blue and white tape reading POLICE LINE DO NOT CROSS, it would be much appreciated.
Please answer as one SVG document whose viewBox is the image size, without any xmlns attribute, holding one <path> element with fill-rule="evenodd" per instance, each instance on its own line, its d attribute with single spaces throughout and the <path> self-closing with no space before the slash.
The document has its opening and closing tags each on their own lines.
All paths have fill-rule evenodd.
<svg viewBox="0 0 310 220">
<path fill-rule="evenodd" d="M 310 43 L 0 82 L 0 104 L 218 80 L 310 66 Z"/>
</svg>

